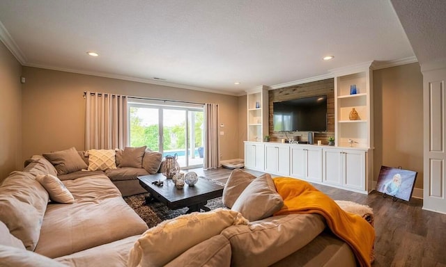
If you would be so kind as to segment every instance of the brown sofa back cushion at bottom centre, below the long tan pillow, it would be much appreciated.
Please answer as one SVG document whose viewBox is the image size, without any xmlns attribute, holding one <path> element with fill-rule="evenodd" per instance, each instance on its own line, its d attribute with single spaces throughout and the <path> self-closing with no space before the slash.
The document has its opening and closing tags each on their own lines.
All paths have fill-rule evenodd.
<svg viewBox="0 0 446 267">
<path fill-rule="evenodd" d="M 231 266 L 231 244 L 221 234 L 213 236 L 180 254 L 164 267 Z"/>
</svg>

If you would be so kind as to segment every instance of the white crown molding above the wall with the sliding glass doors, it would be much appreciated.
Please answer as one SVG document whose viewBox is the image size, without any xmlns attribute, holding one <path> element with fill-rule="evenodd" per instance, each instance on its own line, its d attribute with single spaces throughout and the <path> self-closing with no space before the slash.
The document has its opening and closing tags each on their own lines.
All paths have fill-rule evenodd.
<svg viewBox="0 0 446 267">
<path fill-rule="evenodd" d="M 39 65 L 39 64 L 24 64 L 26 67 L 38 67 L 40 69 L 45 70 L 56 70 L 59 72 L 71 72 L 76 74 L 84 74 L 84 75 L 91 75 L 91 76 L 99 76 L 99 77 L 105 77 L 110 79 L 118 79 L 118 80 L 124 80 L 124 81 L 135 81 L 138 83 L 148 83 L 148 84 L 154 84 L 157 86 L 168 86 L 168 87 L 174 87 L 174 88 L 181 88 L 181 89 L 188 89 L 188 90 L 196 90 L 201 92 L 210 92 L 213 94 L 220 94 L 220 95 L 233 95 L 233 96 L 240 96 L 240 92 L 229 92 L 225 90 L 211 90 L 196 86 L 187 86 L 185 84 L 179 84 L 179 83 L 168 83 L 165 81 L 153 81 L 150 79 L 143 79 L 143 78 L 137 78 L 132 76 L 125 76 L 125 75 L 118 75 L 118 74 L 109 74 L 105 72 L 89 72 L 89 71 L 82 71 L 82 70 L 73 70 L 63 67 L 52 67 L 48 65 Z M 243 92 L 241 92 L 243 95 Z"/>
</svg>

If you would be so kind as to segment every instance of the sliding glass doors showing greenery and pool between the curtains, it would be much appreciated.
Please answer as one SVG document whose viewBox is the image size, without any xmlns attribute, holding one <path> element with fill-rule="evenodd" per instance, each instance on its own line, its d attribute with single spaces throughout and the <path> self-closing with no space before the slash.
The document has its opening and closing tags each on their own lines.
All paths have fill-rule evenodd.
<svg viewBox="0 0 446 267">
<path fill-rule="evenodd" d="M 130 146 L 177 154 L 183 169 L 203 165 L 203 106 L 129 99 L 128 108 Z"/>
</svg>

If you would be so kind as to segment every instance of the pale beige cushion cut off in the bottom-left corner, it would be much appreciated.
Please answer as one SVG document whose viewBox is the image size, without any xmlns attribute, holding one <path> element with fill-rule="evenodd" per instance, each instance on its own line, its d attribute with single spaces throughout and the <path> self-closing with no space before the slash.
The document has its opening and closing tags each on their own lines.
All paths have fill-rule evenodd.
<svg viewBox="0 0 446 267">
<path fill-rule="evenodd" d="M 4 267 L 66 267 L 54 259 L 7 245 L 0 245 L 0 262 Z"/>
</svg>

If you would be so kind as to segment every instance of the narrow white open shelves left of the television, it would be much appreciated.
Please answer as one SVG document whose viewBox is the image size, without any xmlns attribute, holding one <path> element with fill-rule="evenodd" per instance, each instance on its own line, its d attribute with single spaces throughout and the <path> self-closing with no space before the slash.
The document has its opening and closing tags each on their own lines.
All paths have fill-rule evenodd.
<svg viewBox="0 0 446 267">
<path fill-rule="evenodd" d="M 262 142 L 268 136 L 268 87 L 247 92 L 247 140 Z"/>
</svg>

